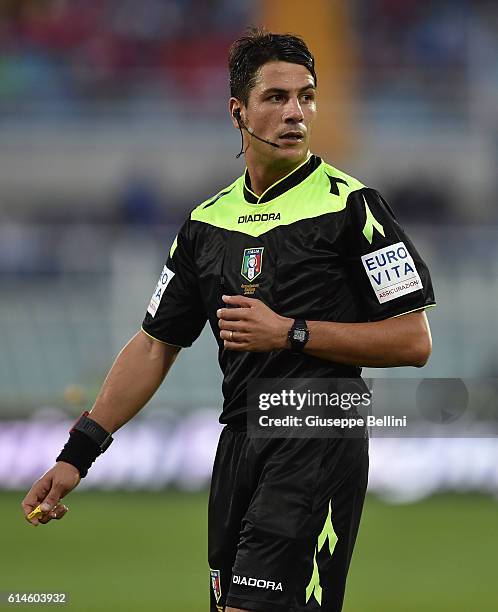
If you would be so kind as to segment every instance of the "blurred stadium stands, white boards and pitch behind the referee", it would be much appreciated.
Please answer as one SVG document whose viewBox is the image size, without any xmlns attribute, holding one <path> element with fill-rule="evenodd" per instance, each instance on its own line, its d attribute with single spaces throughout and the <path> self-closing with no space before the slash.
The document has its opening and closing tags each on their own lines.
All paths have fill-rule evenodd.
<svg viewBox="0 0 498 612">
<path fill-rule="evenodd" d="M 62 523 L 30 529 L 19 501 L 139 327 L 187 212 L 242 172 L 226 55 L 249 24 L 305 37 L 314 151 L 383 192 L 429 263 L 423 375 L 498 377 L 496 3 L 0 0 L 0 591 L 207 609 L 206 330 Z M 345 610 L 497 610 L 497 466 L 492 437 L 373 440 Z"/>
</svg>

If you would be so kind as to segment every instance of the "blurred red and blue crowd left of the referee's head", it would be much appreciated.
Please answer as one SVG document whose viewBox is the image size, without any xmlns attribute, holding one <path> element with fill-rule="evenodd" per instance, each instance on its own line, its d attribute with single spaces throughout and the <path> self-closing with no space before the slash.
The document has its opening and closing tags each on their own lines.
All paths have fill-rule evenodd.
<svg viewBox="0 0 498 612">
<path fill-rule="evenodd" d="M 70 113 L 117 99 L 225 93 L 228 45 L 248 23 L 250 4 L 2 0 L 0 103 Z"/>
</svg>

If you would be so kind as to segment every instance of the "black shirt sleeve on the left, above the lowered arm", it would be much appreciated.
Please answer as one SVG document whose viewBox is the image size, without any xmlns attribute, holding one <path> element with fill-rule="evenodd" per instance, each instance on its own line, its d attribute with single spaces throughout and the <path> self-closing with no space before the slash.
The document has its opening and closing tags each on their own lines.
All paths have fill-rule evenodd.
<svg viewBox="0 0 498 612">
<path fill-rule="evenodd" d="M 187 220 L 171 246 L 142 329 L 157 340 L 187 347 L 198 338 L 206 320 Z"/>
</svg>

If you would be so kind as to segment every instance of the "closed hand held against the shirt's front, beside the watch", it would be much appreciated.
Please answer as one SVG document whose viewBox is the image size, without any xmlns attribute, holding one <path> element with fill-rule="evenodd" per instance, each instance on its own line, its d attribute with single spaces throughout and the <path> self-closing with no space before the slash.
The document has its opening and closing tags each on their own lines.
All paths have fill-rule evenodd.
<svg viewBox="0 0 498 612">
<path fill-rule="evenodd" d="M 268 353 L 287 348 L 292 319 L 281 317 L 261 300 L 243 295 L 224 295 L 222 299 L 235 307 L 220 308 L 216 313 L 226 349 Z"/>
</svg>

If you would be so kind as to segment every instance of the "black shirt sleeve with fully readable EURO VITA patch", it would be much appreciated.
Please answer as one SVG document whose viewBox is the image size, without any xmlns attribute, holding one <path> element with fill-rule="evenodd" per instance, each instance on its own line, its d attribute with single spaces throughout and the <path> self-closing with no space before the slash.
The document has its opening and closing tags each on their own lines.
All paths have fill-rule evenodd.
<svg viewBox="0 0 498 612">
<path fill-rule="evenodd" d="M 373 189 L 350 194 L 343 249 L 369 321 L 380 321 L 435 304 L 424 260 Z"/>
</svg>

